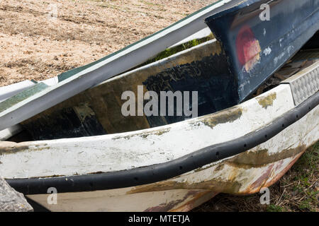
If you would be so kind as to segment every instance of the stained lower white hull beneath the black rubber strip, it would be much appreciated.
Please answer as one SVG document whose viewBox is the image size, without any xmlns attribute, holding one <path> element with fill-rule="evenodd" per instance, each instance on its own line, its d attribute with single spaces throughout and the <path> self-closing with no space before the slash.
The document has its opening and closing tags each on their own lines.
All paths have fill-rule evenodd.
<svg viewBox="0 0 319 226">
<path fill-rule="evenodd" d="M 57 204 L 47 203 L 49 194 L 28 196 L 52 211 L 189 211 L 223 192 L 253 194 L 280 179 L 298 157 L 318 140 L 319 107 L 301 121 L 289 126 L 277 136 L 252 148 L 247 153 L 208 165 L 196 172 L 164 182 L 125 189 L 57 194 Z M 317 121 L 314 125 L 313 121 Z M 284 141 L 283 138 L 286 138 Z M 265 150 L 274 153 L 276 160 L 251 165 L 249 157 L 265 157 Z M 289 152 L 291 155 L 287 155 Z M 281 159 L 281 155 L 286 155 Z M 242 160 L 242 162 L 240 162 Z M 265 160 L 267 162 L 267 160 Z M 264 163 L 264 162 L 262 162 Z M 138 204 L 137 204 L 138 203 Z"/>
</svg>

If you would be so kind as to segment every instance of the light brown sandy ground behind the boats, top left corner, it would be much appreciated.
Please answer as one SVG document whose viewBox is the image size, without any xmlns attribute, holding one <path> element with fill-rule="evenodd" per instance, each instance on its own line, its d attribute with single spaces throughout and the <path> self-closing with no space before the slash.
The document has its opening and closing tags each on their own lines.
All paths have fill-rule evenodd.
<svg viewBox="0 0 319 226">
<path fill-rule="evenodd" d="M 88 64 L 214 1 L 1 0 L 0 85 Z"/>
</svg>

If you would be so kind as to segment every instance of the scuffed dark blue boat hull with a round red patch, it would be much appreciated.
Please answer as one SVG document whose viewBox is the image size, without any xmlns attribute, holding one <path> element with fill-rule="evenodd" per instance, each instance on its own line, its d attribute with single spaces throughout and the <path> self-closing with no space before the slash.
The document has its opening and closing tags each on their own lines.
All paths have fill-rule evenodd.
<svg viewBox="0 0 319 226">
<path fill-rule="evenodd" d="M 262 4 L 268 4 L 270 20 L 260 18 L 266 9 Z M 318 0 L 249 0 L 206 18 L 228 59 L 237 102 L 249 97 L 319 30 L 318 8 Z"/>
</svg>

